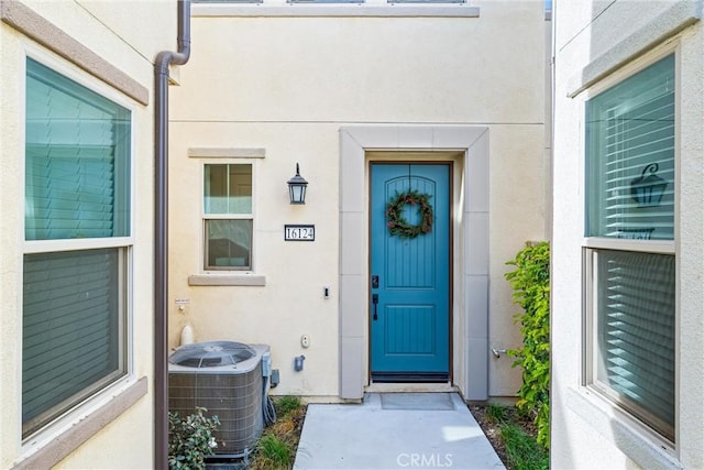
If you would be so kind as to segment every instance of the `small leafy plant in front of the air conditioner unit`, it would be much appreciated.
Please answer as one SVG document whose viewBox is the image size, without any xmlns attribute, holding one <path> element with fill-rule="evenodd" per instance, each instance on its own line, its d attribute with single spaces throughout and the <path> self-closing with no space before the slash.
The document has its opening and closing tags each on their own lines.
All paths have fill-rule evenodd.
<svg viewBox="0 0 704 470">
<path fill-rule="evenodd" d="M 218 446 L 213 431 L 220 427 L 218 416 L 205 416 L 208 409 L 196 407 L 196 413 L 180 418 L 168 414 L 168 467 L 176 469 L 205 469 L 206 457 Z"/>
</svg>

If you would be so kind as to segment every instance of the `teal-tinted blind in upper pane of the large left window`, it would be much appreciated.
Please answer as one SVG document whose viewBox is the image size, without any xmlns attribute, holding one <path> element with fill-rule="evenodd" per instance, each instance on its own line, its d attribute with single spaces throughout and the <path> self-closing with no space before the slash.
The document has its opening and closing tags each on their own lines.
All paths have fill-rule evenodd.
<svg viewBox="0 0 704 470">
<path fill-rule="evenodd" d="M 130 112 L 28 61 L 25 238 L 127 236 Z"/>
</svg>

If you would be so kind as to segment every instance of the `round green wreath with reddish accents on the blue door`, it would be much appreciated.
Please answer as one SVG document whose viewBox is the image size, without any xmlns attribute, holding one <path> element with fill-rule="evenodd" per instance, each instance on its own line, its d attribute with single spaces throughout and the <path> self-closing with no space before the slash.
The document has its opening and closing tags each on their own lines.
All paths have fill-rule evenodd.
<svg viewBox="0 0 704 470">
<path fill-rule="evenodd" d="M 414 239 L 419 234 L 426 234 L 432 231 L 432 206 L 430 198 L 432 196 L 419 193 L 415 189 L 406 193 L 396 193 L 386 205 L 386 227 L 388 232 L 399 238 Z M 404 207 L 406 205 L 416 206 L 418 209 L 418 223 L 410 225 L 404 217 Z"/>
</svg>

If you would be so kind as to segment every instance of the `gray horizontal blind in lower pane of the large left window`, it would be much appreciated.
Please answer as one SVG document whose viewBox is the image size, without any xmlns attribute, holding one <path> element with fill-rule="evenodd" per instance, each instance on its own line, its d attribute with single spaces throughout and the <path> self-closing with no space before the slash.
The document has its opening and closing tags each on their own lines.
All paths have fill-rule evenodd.
<svg viewBox="0 0 704 470">
<path fill-rule="evenodd" d="M 121 374 L 120 249 L 24 255 L 23 435 Z"/>
</svg>

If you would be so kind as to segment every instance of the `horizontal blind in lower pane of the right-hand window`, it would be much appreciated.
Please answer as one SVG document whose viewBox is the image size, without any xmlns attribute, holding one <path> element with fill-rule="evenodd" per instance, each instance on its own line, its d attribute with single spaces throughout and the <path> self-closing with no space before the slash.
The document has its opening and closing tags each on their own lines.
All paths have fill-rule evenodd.
<svg viewBox="0 0 704 470">
<path fill-rule="evenodd" d="M 637 415 L 673 438 L 674 256 L 597 253 L 597 378 Z"/>
</svg>

